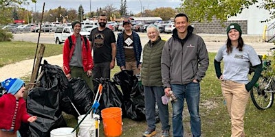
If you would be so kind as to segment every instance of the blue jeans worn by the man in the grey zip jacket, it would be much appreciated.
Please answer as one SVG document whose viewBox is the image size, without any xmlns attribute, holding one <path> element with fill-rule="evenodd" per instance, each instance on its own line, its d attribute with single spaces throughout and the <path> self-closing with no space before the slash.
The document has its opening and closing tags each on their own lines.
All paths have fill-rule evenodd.
<svg viewBox="0 0 275 137">
<path fill-rule="evenodd" d="M 190 114 L 190 125 L 193 137 L 201 136 L 201 118 L 199 117 L 199 83 L 190 82 L 179 85 L 171 84 L 177 101 L 172 103 L 173 106 L 173 136 L 184 136 L 184 127 L 182 124 L 182 111 L 184 110 L 184 99 L 188 106 Z"/>
</svg>

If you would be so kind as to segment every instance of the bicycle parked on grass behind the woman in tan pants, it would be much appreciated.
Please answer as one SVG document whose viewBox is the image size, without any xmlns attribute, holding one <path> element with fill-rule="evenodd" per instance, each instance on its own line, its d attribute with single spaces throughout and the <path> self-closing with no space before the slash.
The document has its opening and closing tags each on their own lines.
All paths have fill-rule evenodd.
<svg viewBox="0 0 275 137">
<path fill-rule="evenodd" d="M 270 51 L 274 49 L 272 48 Z M 250 90 L 250 96 L 256 108 L 265 110 L 270 108 L 274 101 L 275 73 L 273 72 L 272 61 L 268 60 L 266 55 L 259 55 L 259 58 L 263 63 L 263 71 L 258 82 Z"/>
</svg>

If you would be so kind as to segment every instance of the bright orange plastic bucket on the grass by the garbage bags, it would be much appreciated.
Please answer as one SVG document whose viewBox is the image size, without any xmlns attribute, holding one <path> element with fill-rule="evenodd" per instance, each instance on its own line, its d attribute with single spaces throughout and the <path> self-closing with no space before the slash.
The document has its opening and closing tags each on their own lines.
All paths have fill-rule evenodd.
<svg viewBox="0 0 275 137">
<path fill-rule="evenodd" d="M 101 110 L 105 136 L 122 135 L 122 110 L 118 107 Z"/>
</svg>

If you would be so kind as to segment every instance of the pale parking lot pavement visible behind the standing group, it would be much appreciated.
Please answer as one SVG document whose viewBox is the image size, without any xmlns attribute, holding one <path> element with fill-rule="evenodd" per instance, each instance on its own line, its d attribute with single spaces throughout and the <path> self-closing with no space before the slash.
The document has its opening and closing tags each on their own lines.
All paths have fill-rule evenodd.
<svg viewBox="0 0 275 137">
<path fill-rule="evenodd" d="M 118 36 L 118 33 L 115 32 L 115 36 Z M 142 42 L 142 46 L 148 42 L 148 38 L 146 33 L 138 32 L 137 34 L 140 35 L 140 40 Z M 168 40 L 172 34 L 160 34 L 162 39 Z M 217 52 L 221 45 L 225 44 L 226 35 L 222 34 L 199 34 L 206 42 L 206 48 L 209 52 Z M 30 41 L 30 42 L 37 42 L 39 38 L 39 33 L 22 33 L 22 34 L 14 34 L 14 40 L 17 41 Z M 243 35 L 243 40 L 246 44 L 251 45 L 254 47 L 258 54 L 268 53 L 267 50 L 271 47 L 274 47 L 273 43 L 261 42 L 261 36 L 248 36 Z M 53 32 L 41 32 L 41 36 L 39 39 L 39 43 L 43 44 L 54 44 L 54 33 Z M 57 45 L 63 46 L 63 45 Z"/>
</svg>

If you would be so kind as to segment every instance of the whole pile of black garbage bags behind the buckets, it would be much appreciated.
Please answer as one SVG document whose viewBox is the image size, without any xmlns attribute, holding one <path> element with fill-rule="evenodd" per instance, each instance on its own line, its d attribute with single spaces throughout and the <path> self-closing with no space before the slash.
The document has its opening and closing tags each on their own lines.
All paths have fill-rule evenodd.
<svg viewBox="0 0 275 137">
<path fill-rule="evenodd" d="M 62 112 L 76 118 L 79 114 L 86 114 L 93 105 L 99 84 L 103 89 L 96 114 L 104 108 L 120 107 L 123 117 L 145 120 L 143 86 L 133 71 L 116 73 L 113 82 L 110 79 L 94 79 L 94 91 L 80 77 L 68 80 L 60 66 L 48 64 L 45 60 L 42 71 L 39 87 L 32 88 L 27 98 L 27 111 L 37 116 L 37 120 L 22 123 L 19 129 L 22 137 L 46 137 L 50 136 L 52 129 L 67 127 Z"/>
</svg>

